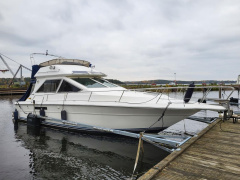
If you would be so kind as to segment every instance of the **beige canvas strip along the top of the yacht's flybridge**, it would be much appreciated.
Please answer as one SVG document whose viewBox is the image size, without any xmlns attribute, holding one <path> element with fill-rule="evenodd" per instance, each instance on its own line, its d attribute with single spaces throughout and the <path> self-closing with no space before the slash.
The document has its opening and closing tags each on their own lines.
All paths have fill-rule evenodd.
<svg viewBox="0 0 240 180">
<path fill-rule="evenodd" d="M 46 61 L 43 63 L 40 63 L 40 67 L 46 67 L 51 65 L 79 65 L 79 66 L 86 66 L 90 67 L 91 63 L 85 60 L 79 60 L 79 59 L 52 59 L 50 61 Z"/>
</svg>

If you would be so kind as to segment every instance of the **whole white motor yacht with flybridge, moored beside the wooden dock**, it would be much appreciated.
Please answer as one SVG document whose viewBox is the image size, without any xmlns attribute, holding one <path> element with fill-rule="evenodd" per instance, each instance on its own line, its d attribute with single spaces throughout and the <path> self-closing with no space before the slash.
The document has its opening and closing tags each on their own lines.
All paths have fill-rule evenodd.
<svg viewBox="0 0 240 180">
<path fill-rule="evenodd" d="M 48 117 L 44 122 L 51 126 L 140 132 L 160 131 L 200 110 L 225 110 L 162 93 L 128 90 L 105 76 L 83 60 L 53 59 L 34 65 L 30 87 L 16 102 L 18 118 L 26 120 L 32 113 Z"/>
</svg>

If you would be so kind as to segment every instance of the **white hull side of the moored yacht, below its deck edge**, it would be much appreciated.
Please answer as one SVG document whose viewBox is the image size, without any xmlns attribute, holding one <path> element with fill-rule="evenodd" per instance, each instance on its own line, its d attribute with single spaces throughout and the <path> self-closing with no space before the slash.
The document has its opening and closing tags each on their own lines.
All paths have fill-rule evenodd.
<svg viewBox="0 0 240 180">
<path fill-rule="evenodd" d="M 113 107 L 90 105 L 56 105 L 42 104 L 18 104 L 16 106 L 19 117 L 27 118 L 29 113 L 40 115 L 40 108 L 45 109 L 45 115 L 49 118 L 62 119 L 61 111 L 65 110 L 67 122 L 83 124 L 76 126 L 71 123 L 64 124 L 61 121 L 46 119 L 44 124 L 83 131 L 95 131 L 95 127 L 127 130 L 132 132 L 160 131 L 178 121 L 198 112 L 196 109 L 171 109 L 150 107 Z M 165 111 L 164 115 L 163 112 Z M 162 118 L 160 118 L 163 115 Z M 88 126 L 84 126 L 88 125 Z M 89 127 L 90 125 L 90 127 Z"/>
</svg>

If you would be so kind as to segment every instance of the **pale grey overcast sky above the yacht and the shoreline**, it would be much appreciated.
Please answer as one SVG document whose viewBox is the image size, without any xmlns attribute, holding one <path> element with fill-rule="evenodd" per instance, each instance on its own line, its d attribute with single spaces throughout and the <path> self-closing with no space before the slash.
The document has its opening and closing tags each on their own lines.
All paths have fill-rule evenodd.
<svg viewBox="0 0 240 180">
<path fill-rule="evenodd" d="M 240 1 L 1 0 L 0 53 L 31 67 L 46 50 L 122 81 L 236 80 Z"/>
</svg>

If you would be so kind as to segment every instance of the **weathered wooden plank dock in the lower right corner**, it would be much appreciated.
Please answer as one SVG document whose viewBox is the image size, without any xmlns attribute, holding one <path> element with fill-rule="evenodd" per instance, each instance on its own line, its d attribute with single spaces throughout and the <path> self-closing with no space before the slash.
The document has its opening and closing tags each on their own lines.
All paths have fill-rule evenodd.
<svg viewBox="0 0 240 180">
<path fill-rule="evenodd" d="M 240 122 L 220 119 L 139 178 L 240 179 Z"/>
</svg>

